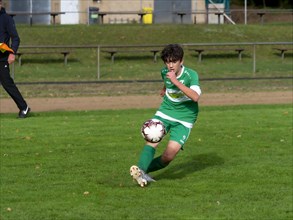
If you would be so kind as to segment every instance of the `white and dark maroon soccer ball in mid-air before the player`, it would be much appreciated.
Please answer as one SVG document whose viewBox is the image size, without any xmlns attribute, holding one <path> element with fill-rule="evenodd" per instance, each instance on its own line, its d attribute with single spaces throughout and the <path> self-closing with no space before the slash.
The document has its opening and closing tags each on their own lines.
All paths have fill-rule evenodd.
<svg viewBox="0 0 293 220">
<path fill-rule="evenodd" d="M 166 134 L 166 129 L 158 119 L 149 119 L 141 126 L 141 134 L 143 138 L 151 143 L 158 143 Z"/>
</svg>

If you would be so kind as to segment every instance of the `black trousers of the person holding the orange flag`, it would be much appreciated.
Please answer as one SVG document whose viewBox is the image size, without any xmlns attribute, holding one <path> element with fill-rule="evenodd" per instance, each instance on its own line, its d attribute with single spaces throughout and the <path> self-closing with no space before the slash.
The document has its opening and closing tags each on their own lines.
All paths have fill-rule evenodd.
<svg viewBox="0 0 293 220">
<path fill-rule="evenodd" d="M 27 108 L 27 104 L 10 76 L 8 62 L 0 62 L 0 83 L 14 100 L 19 110 L 25 110 Z"/>
</svg>

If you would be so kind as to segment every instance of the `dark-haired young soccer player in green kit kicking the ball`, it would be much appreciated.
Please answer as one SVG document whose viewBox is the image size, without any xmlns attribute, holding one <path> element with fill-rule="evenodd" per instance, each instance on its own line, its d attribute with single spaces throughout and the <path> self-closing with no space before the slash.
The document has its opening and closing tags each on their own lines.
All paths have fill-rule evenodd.
<svg viewBox="0 0 293 220">
<path fill-rule="evenodd" d="M 198 74 L 183 66 L 184 51 L 178 44 L 167 45 L 161 52 L 166 67 L 161 70 L 164 87 L 163 101 L 155 113 L 170 133 L 170 139 L 162 155 L 154 158 L 159 143 L 146 142 L 137 166 L 130 167 L 130 175 L 144 187 L 153 180 L 148 173 L 166 167 L 183 149 L 198 115 L 201 95 Z"/>
</svg>

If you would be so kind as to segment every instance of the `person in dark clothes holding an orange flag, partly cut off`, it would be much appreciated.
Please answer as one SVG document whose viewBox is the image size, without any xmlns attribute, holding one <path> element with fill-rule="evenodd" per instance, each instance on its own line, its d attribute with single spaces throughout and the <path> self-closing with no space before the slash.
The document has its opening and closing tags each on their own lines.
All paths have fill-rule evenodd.
<svg viewBox="0 0 293 220">
<path fill-rule="evenodd" d="M 10 15 L 6 14 L 5 8 L 2 7 L 2 0 L 0 0 L 0 43 L 10 45 L 13 51 L 0 51 L 0 83 L 19 108 L 18 117 L 26 118 L 30 108 L 11 78 L 9 69 L 9 65 L 15 61 L 20 39 L 14 20 Z"/>
</svg>

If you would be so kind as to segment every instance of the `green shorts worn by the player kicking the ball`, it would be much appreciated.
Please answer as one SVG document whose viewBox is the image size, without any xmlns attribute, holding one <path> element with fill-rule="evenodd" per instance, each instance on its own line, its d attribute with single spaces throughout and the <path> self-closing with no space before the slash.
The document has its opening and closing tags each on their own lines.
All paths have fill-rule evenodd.
<svg viewBox="0 0 293 220">
<path fill-rule="evenodd" d="M 183 124 L 175 121 L 169 121 L 167 119 L 161 118 L 159 116 L 154 116 L 154 118 L 163 122 L 167 133 L 170 132 L 170 140 L 176 141 L 181 145 L 181 149 L 183 149 L 183 145 L 187 141 L 189 134 L 191 132 L 191 128 L 185 127 Z"/>
</svg>

